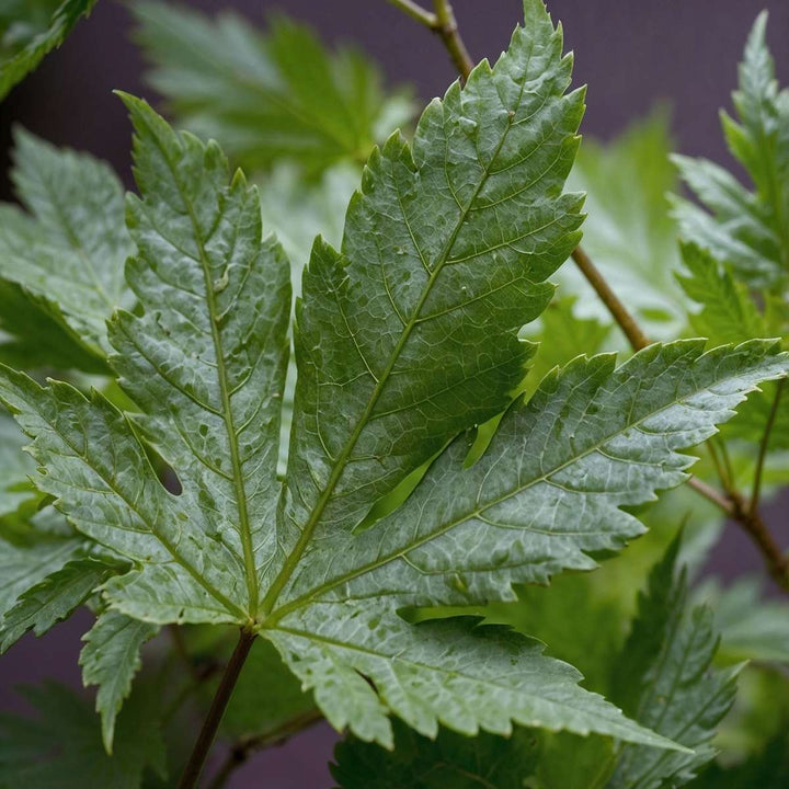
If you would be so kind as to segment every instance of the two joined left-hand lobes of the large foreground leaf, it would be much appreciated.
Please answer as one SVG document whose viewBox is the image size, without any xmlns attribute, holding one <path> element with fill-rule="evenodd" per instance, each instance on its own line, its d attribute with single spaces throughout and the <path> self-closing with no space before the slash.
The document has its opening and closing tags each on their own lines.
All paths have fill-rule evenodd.
<svg viewBox="0 0 789 789">
<path fill-rule="evenodd" d="M 254 190 L 240 175 L 227 185 L 218 148 L 128 102 L 144 201 L 129 201 L 139 256 L 127 279 L 145 315 L 118 312 L 111 335 L 122 381 L 149 413 L 133 426 L 96 393 L 89 402 L 16 374 L 3 397 L 37 435 L 49 470 L 39 488 L 138 563 L 108 585 L 118 607 L 149 620 L 245 621 L 274 536 L 288 267 L 261 241 Z M 180 496 L 159 482 L 138 430 L 178 472 Z"/>
</svg>

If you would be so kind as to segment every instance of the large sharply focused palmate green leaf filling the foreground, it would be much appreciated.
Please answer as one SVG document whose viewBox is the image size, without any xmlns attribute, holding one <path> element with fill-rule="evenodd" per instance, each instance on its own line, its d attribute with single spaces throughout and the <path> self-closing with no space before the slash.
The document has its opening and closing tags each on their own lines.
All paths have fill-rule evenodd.
<svg viewBox="0 0 789 789">
<path fill-rule="evenodd" d="M 788 366 L 770 342 L 706 354 L 679 342 L 618 369 L 576 359 L 512 402 L 535 351 L 521 328 L 578 243 L 582 202 L 562 186 L 583 94 L 565 95 L 571 59 L 542 3 L 524 8 L 493 68 L 434 101 L 413 145 L 395 135 L 373 153 L 340 250 L 316 242 L 284 482 L 289 265 L 216 144 L 130 96 L 139 309 L 111 321 L 108 363 L 140 411 L 9 369 L 0 397 L 34 438 L 37 487 L 128 563 L 101 583 L 106 604 L 270 639 L 335 727 L 391 745 L 395 713 L 423 735 L 516 722 L 672 747 L 507 628 L 399 614 L 511 599 L 515 581 L 592 568 L 643 529 L 621 507 L 684 481 L 679 450 Z M 506 409 L 465 468 L 466 432 Z M 402 507 L 365 523 L 436 455 Z"/>
</svg>

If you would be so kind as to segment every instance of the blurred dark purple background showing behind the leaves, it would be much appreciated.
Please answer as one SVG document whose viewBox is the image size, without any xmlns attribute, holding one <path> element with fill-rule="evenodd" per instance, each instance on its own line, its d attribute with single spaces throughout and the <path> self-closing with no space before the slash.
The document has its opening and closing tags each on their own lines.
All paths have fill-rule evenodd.
<svg viewBox="0 0 789 789">
<path fill-rule="evenodd" d="M 206 10 L 225 3 L 193 0 Z M 455 75 L 439 42 L 385 0 L 227 0 L 254 22 L 278 8 L 308 21 L 329 39 L 352 39 L 384 64 L 393 82 L 412 82 L 422 98 L 443 93 Z M 770 11 L 768 39 L 778 58 L 781 82 L 789 82 L 789 3 L 786 0 L 549 0 L 554 19 L 564 24 L 569 48 L 575 50 L 576 82 L 587 82 L 587 135 L 608 138 L 629 119 L 645 114 L 656 101 L 673 107 L 678 150 L 721 162 L 718 108 L 729 106 L 736 61 L 747 30 L 763 8 Z M 519 19 L 519 0 L 455 0 L 458 22 L 474 57 L 494 59 L 506 46 Z M 123 5 L 101 0 L 64 47 L 0 104 L 0 196 L 8 198 L 10 128 L 21 123 L 59 145 L 85 149 L 108 159 L 128 181 L 129 127 L 114 88 L 144 94 L 142 64 L 128 41 L 129 20 Z M 770 521 L 782 526 L 784 506 Z M 748 540 L 729 529 L 713 558 L 724 574 L 759 568 Z M 12 687 L 56 677 L 80 684 L 77 654 L 87 615 L 58 626 L 39 641 L 27 637 L 0 659 L 0 710 L 19 701 Z M 258 755 L 230 784 L 232 789 L 325 789 L 325 763 L 334 741 L 317 727 L 281 748 Z M 263 781 L 259 776 L 266 776 Z"/>
</svg>

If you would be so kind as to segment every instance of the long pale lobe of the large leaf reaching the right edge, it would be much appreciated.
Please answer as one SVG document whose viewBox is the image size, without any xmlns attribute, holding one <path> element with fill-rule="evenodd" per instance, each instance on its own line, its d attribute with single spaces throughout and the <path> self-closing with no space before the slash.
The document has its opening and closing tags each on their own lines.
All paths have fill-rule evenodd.
<svg viewBox="0 0 789 789">
<path fill-rule="evenodd" d="M 371 595 L 401 606 L 514 599 L 513 582 L 593 568 L 588 553 L 643 530 L 620 507 L 684 481 L 693 459 L 679 450 L 712 435 L 759 381 L 786 375 L 777 352 L 752 341 L 704 353 L 695 340 L 652 345 L 619 368 L 610 355 L 575 359 L 507 412 L 471 468 L 460 437 L 391 516 L 311 546 L 283 610 Z"/>
</svg>

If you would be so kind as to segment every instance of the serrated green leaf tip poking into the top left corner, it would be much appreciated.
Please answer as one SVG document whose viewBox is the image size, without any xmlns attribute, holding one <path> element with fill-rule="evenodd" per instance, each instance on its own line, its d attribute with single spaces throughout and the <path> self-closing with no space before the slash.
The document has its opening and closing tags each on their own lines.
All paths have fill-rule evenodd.
<svg viewBox="0 0 789 789">
<path fill-rule="evenodd" d="M 59 47 L 96 0 L 11 0 L 0 11 L 0 100 Z"/>
</svg>

